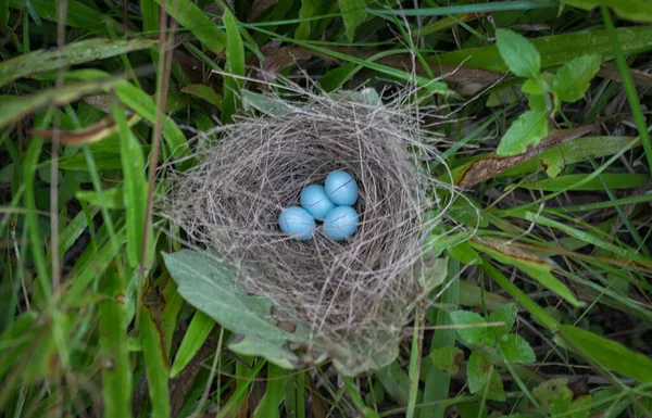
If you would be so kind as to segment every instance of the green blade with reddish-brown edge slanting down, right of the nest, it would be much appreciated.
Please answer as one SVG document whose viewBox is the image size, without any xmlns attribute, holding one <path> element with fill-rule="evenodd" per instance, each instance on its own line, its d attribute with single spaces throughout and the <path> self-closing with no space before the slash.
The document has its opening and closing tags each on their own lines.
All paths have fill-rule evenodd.
<svg viewBox="0 0 652 418">
<path fill-rule="evenodd" d="M 536 279 L 538 282 L 552 290 L 561 297 L 566 300 L 573 306 L 584 306 L 585 303 L 579 301 L 575 294 L 568 289 L 566 284 L 560 281 L 556 277 L 551 274 L 550 264 L 537 259 L 537 257 L 532 254 L 521 252 L 521 253 L 507 253 L 500 252 L 490 246 L 480 244 L 478 242 L 473 242 L 472 245 L 496 258 L 498 262 L 503 264 L 510 264 L 518 267 L 521 270 L 525 271 L 528 276 Z"/>
</svg>

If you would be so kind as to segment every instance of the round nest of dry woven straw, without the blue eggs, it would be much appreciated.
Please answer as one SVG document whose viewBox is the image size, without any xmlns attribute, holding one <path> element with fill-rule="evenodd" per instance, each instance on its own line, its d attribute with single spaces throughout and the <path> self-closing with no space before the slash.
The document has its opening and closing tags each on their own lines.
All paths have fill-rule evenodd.
<svg viewBox="0 0 652 418">
<path fill-rule="evenodd" d="M 373 90 L 309 96 L 301 103 L 267 98 L 271 112 L 218 127 L 200 141 L 199 164 L 176 174 L 168 217 L 191 241 L 261 274 L 242 288 L 268 297 L 314 341 L 342 356 L 373 357 L 401 338 L 423 295 L 415 271 L 424 243 L 444 216 L 439 185 L 425 169 L 438 139 L 424 135 L 414 109 Z M 338 169 L 359 185 L 358 232 L 334 242 L 317 226 L 297 241 L 278 227 L 301 190 Z"/>
</svg>

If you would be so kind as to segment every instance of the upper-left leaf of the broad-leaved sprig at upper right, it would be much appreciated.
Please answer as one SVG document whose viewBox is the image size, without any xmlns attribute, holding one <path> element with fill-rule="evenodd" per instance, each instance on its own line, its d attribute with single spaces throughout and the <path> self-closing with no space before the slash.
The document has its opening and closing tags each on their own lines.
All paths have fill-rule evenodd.
<svg viewBox="0 0 652 418">
<path fill-rule="evenodd" d="M 540 77 L 541 55 L 527 38 L 512 30 L 497 29 L 496 45 L 512 73 L 518 77 Z"/>
</svg>

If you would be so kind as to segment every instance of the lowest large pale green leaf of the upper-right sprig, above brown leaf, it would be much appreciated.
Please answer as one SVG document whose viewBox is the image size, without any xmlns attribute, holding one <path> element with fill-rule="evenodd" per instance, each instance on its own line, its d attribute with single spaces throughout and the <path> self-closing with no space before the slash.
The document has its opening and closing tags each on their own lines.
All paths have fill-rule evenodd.
<svg viewBox="0 0 652 418">
<path fill-rule="evenodd" d="M 510 156 L 524 153 L 548 135 L 548 117 L 543 112 L 527 111 L 512 123 L 500 140 L 496 154 Z"/>
</svg>

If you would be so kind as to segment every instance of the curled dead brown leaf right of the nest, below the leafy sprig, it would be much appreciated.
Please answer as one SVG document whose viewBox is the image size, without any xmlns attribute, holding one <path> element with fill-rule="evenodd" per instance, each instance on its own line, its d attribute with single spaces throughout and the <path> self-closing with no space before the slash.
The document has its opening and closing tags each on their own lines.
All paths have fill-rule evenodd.
<svg viewBox="0 0 652 418">
<path fill-rule="evenodd" d="M 480 181 L 484 181 L 488 178 L 496 176 L 501 172 L 504 172 L 507 168 L 512 168 L 517 164 L 524 163 L 539 155 L 543 151 L 548 151 L 551 148 L 572 141 L 594 129 L 595 127 L 593 125 L 587 125 L 574 129 L 559 130 L 549 136 L 539 145 L 531 147 L 528 151 L 522 154 L 512 156 L 488 155 L 480 160 L 476 160 L 473 163 L 471 163 L 467 169 L 464 172 L 462 178 L 457 182 L 457 186 L 462 188 L 473 187 L 479 183 Z"/>
</svg>

